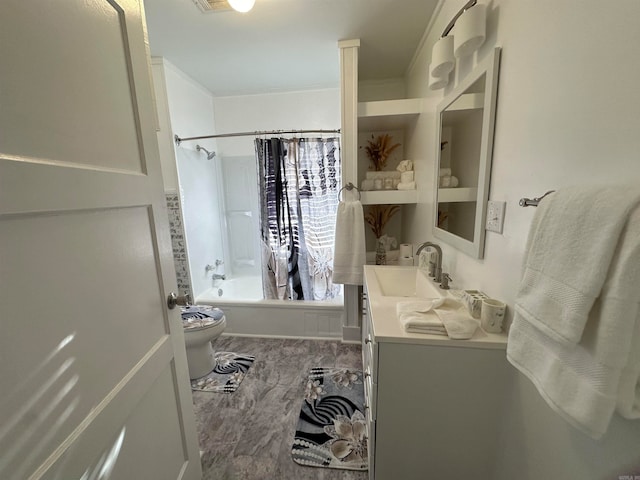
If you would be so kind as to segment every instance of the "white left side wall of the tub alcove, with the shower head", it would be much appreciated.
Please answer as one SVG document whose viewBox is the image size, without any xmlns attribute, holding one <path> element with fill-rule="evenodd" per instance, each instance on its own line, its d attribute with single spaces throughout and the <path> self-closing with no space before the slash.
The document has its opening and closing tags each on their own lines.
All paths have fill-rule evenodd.
<svg viewBox="0 0 640 480">
<path fill-rule="evenodd" d="M 156 73 L 154 78 L 160 74 L 164 77 L 169 126 L 172 130 L 170 139 L 174 133 L 183 138 L 215 133 L 211 93 L 168 61 L 164 60 L 161 63 L 162 72 Z M 154 67 L 157 66 L 158 61 Z M 161 144 L 167 142 L 166 135 L 163 135 L 162 139 Z M 211 287 L 211 276 L 205 274 L 205 266 L 223 258 L 216 180 L 217 159 L 207 160 L 204 152 L 195 151 L 196 144 L 208 150 L 216 150 L 214 140 L 189 141 L 175 146 L 173 154 L 173 162 L 178 166 L 176 180 L 182 201 L 194 298 Z M 165 166 L 169 172 L 165 178 L 167 189 L 175 180 L 170 174 L 171 152 L 166 148 L 164 154 L 167 159 L 163 162 L 163 175 Z"/>
</svg>

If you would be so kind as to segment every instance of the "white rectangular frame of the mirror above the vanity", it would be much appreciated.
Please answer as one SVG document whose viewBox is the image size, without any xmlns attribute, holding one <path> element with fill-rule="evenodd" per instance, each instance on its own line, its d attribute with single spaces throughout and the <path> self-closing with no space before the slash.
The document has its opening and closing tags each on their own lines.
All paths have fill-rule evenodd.
<svg viewBox="0 0 640 480">
<path fill-rule="evenodd" d="M 493 156 L 493 132 L 496 117 L 496 100 L 498 94 L 498 72 L 500 67 L 500 47 L 496 47 L 470 72 L 444 99 L 436 110 L 436 162 L 434 177 L 434 208 L 432 233 L 439 240 L 446 242 L 467 255 L 481 259 L 484 257 L 485 221 L 487 202 L 489 200 L 489 180 L 491 178 L 491 161 Z M 442 114 L 482 75 L 485 78 L 485 95 L 482 112 L 482 133 L 480 142 L 480 168 L 478 171 L 478 192 L 476 195 L 476 215 L 473 228 L 473 242 L 438 228 L 438 188 L 440 179 L 440 142 L 442 139 Z"/>
</svg>

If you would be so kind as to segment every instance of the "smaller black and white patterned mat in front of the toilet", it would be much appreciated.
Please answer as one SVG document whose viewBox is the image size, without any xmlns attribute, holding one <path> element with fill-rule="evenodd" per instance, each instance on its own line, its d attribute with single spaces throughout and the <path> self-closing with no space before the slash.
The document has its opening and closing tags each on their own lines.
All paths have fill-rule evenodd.
<svg viewBox="0 0 640 480">
<path fill-rule="evenodd" d="M 191 389 L 201 392 L 233 393 L 256 359 L 253 355 L 234 352 L 214 353 L 216 366 L 204 377 L 191 380 Z"/>
</svg>

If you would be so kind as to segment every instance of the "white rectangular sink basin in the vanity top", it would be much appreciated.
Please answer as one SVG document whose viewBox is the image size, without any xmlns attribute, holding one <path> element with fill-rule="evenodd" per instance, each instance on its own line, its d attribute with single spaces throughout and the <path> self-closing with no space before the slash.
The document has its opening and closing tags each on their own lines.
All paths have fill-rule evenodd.
<svg viewBox="0 0 640 480">
<path fill-rule="evenodd" d="M 379 294 L 383 297 L 439 298 L 445 291 L 439 289 L 418 267 L 378 265 L 373 268 Z M 372 293 L 372 292 L 369 292 Z"/>
</svg>

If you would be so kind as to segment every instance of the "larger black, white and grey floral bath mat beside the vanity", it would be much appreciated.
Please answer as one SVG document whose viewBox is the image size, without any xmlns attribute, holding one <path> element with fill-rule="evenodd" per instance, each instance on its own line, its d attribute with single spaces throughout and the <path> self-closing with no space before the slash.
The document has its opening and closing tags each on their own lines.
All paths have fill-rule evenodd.
<svg viewBox="0 0 640 480">
<path fill-rule="evenodd" d="M 291 447 L 300 465 L 367 470 L 362 372 L 312 368 Z"/>
</svg>

